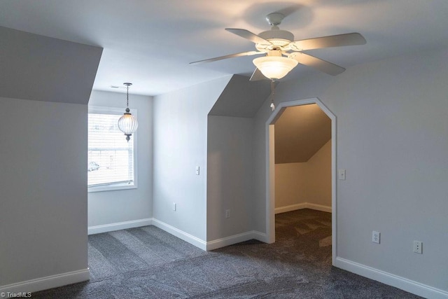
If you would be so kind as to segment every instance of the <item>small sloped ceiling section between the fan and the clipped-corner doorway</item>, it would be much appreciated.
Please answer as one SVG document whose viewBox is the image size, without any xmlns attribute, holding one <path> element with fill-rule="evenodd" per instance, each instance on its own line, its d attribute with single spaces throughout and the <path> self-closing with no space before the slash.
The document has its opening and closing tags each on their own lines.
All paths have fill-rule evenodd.
<svg viewBox="0 0 448 299">
<path fill-rule="evenodd" d="M 253 118 L 270 94 L 270 81 L 251 82 L 246 76 L 234 75 L 211 108 L 209 115 Z"/>
</svg>

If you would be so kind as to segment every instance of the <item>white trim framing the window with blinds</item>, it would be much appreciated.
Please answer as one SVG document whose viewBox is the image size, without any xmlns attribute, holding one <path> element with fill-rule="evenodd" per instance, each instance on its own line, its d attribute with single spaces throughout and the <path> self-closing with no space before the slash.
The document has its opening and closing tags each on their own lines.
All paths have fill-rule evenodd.
<svg viewBox="0 0 448 299">
<path fill-rule="evenodd" d="M 130 108 L 130 112 L 133 116 L 137 118 L 137 109 Z M 88 106 L 88 112 L 87 113 L 102 113 L 102 114 L 117 114 L 122 115 L 125 113 L 124 108 L 119 107 L 105 107 L 105 106 Z M 88 134 L 88 133 L 87 133 Z M 123 138 L 125 138 L 125 134 L 123 134 Z M 87 136 L 88 139 L 88 136 Z M 134 132 L 131 136 L 131 140 L 134 141 L 134 184 L 131 186 L 127 183 L 123 184 L 115 184 L 112 186 L 87 186 L 87 193 L 94 193 L 94 192 L 104 192 L 104 191 L 116 191 L 116 190 L 129 190 L 129 189 L 137 189 L 137 174 L 138 167 L 137 167 L 137 132 Z"/>
</svg>

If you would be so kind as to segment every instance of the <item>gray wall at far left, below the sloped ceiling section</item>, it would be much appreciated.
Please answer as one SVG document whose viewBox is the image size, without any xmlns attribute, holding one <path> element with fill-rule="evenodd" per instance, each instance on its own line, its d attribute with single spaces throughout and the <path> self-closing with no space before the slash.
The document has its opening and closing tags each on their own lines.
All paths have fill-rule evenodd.
<svg viewBox="0 0 448 299">
<path fill-rule="evenodd" d="M 87 104 L 0 104 L 0 286 L 87 270 Z"/>
</svg>

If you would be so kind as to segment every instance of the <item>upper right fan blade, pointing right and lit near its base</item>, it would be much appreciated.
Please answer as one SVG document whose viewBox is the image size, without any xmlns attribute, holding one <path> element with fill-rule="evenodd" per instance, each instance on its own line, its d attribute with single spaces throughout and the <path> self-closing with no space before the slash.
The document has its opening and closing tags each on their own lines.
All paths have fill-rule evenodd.
<svg viewBox="0 0 448 299">
<path fill-rule="evenodd" d="M 320 48 L 364 45 L 365 43 L 367 43 L 367 41 L 365 41 L 364 36 L 361 34 L 347 33 L 317 37 L 316 39 L 302 39 L 302 41 L 293 41 L 289 45 L 292 50 L 304 51 Z"/>
</svg>

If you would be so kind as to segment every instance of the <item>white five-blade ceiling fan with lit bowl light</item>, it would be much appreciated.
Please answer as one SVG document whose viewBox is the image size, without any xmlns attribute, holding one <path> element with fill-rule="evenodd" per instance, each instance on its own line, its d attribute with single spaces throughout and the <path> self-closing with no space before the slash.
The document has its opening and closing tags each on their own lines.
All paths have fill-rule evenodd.
<svg viewBox="0 0 448 299">
<path fill-rule="evenodd" d="M 366 43 L 364 37 L 358 33 L 338 34 L 332 36 L 323 36 L 314 39 L 302 39 L 294 41 L 294 35 L 286 30 L 279 29 L 281 21 L 285 18 L 282 13 L 270 13 L 266 16 L 266 20 L 271 25 L 271 29 L 260 34 L 253 34 L 246 29 L 226 28 L 228 32 L 237 34 L 238 36 L 248 39 L 255 43 L 254 51 L 236 53 L 215 57 L 190 64 L 200 64 L 204 62 L 214 62 L 232 57 L 263 55 L 255 58 L 255 71 L 251 76 L 251 81 L 257 81 L 269 78 L 272 81 L 283 78 L 297 64 L 304 64 L 308 67 L 314 67 L 326 74 L 335 76 L 341 74 L 345 69 L 336 64 L 321 60 L 320 58 L 302 53 L 304 50 L 313 50 L 319 48 L 330 48 L 340 46 L 364 45 Z"/>
</svg>

